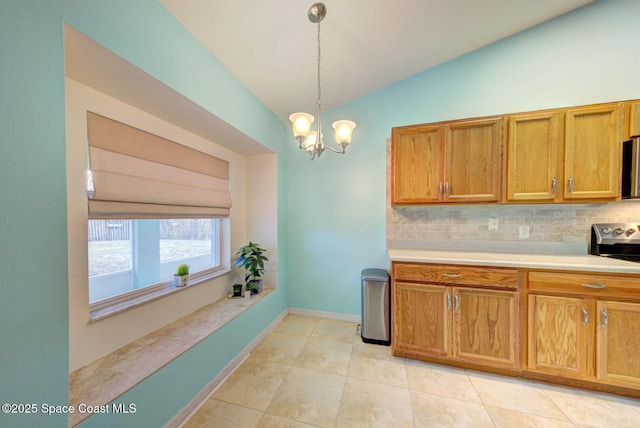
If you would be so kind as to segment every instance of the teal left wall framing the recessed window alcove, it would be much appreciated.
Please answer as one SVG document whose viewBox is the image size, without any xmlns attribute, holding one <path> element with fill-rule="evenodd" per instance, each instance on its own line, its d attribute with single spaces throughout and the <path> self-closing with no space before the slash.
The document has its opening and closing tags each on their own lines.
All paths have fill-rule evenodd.
<svg viewBox="0 0 640 428">
<path fill-rule="evenodd" d="M 68 403 L 64 23 L 282 152 L 287 191 L 285 125 L 157 1 L 0 0 L 0 403 Z M 161 426 L 286 307 L 281 275 L 277 292 L 125 394 L 133 417 L 84 426 Z M 66 427 L 67 416 L 0 413 L 0 426 Z"/>
</svg>

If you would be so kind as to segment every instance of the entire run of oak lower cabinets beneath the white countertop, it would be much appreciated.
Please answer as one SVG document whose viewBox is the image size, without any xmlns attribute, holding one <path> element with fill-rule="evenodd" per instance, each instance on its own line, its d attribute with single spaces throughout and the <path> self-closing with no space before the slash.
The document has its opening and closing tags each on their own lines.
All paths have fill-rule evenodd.
<svg viewBox="0 0 640 428">
<path fill-rule="evenodd" d="M 396 356 L 640 397 L 639 275 L 394 262 L 391 307 Z"/>
</svg>

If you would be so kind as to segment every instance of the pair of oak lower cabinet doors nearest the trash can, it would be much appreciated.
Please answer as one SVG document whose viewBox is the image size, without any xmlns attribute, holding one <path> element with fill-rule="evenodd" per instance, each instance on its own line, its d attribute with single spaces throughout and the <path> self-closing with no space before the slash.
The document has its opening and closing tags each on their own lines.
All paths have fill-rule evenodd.
<svg viewBox="0 0 640 428">
<path fill-rule="evenodd" d="M 518 366 L 517 292 L 395 282 L 396 355 Z"/>
</svg>

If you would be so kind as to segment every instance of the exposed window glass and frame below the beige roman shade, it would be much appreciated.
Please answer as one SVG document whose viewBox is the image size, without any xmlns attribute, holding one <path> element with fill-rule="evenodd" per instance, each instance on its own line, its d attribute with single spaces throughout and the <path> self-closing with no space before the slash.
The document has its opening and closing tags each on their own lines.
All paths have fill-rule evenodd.
<svg viewBox="0 0 640 428">
<path fill-rule="evenodd" d="M 112 305 L 173 288 L 180 263 L 191 280 L 221 269 L 219 219 L 89 220 L 89 303 Z"/>
</svg>

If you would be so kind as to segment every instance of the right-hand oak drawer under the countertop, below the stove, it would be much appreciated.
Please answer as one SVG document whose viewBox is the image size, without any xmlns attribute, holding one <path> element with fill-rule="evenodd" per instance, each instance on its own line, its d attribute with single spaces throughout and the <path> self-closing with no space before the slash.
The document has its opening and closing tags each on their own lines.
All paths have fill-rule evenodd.
<svg viewBox="0 0 640 428">
<path fill-rule="evenodd" d="M 640 278 L 635 275 L 529 272 L 529 289 L 640 298 Z"/>
</svg>

